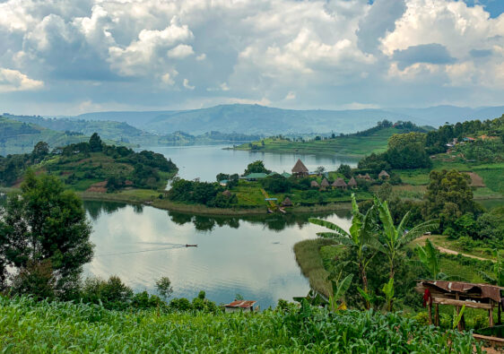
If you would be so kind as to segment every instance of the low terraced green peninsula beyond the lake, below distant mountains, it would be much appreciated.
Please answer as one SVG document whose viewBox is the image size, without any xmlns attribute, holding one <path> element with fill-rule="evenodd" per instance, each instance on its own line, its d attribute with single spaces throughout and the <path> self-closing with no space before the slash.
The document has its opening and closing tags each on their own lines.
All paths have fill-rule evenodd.
<svg viewBox="0 0 504 354">
<path fill-rule="evenodd" d="M 335 136 L 332 138 L 316 138 L 311 141 L 286 139 L 282 136 L 270 137 L 262 141 L 242 144 L 237 150 L 299 152 L 309 154 L 325 154 L 360 158 L 371 152 L 387 150 L 387 141 L 393 134 L 410 132 L 427 132 L 426 128 L 413 125 L 410 122 L 379 122 L 375 127 L 365 131 Z"/>
</svg>

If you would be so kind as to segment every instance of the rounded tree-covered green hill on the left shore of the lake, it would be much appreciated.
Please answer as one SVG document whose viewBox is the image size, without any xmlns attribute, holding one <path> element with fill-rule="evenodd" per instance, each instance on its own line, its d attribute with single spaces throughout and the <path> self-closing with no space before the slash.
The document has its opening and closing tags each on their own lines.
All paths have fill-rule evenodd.
<svg viewBox="0 0 504 354">
<path fill-rule="evenodd" d="M 44 144 L 37 146 L 40 148 L 32 153 L 0 157 L 2 186 L 19 186 L 24 172 L 32 168 L 59 177 L 75 191 L 105 193 L 133 187 L 157 190 L 164 188 L 178 170 L 159 153 L 107 145 L 96 134 L 90 142 L 69 144 L 55 151 L 49 151 Z"/>
</svg>

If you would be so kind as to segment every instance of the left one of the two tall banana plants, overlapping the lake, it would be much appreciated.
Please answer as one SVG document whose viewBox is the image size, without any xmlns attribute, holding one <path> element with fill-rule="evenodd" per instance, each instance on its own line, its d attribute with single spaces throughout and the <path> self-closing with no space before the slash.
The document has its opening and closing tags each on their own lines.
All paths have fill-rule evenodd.
<svg viewBox="0 0 504 354">
<path fill-rule="evenodd" d="M 317 218 L 310 218 L 309 222 L 331 229 L 333 232 L 317 232 L 317 236 L 326 237 L 335 240 L 336 243 L 355 248 L 357 252 L 357 260 L 355 263 L 359 267 L 359 274 L 361 276 L 362 287 L 365 293 L 368 293 L 368 275 L 367 268 L 369 262 L 378 252 L 378 247 L 381 245 L 378 241 L 378 227 L 376 223 L 376 207 L 373 205 L 369 208 L 368 212 L 362 214 L 359 211 L 359 206 L 355 199 L 355 194 L 352 194 L 352 226 L 349 232 L 340 228 L 333 222 L 321 220 Z M 369 255 L 367 250 L 372 249 Z M 369 301 L 364 298 L 366 308 L 369 309 Z"/>
</svg>

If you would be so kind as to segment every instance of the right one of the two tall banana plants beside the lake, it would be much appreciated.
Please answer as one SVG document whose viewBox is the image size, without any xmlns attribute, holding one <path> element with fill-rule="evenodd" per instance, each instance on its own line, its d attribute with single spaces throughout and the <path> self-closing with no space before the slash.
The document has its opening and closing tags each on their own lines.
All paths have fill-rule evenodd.
<svg viewBox="0 0 504 354">
<path fill-rule="evenodd" d="M 392 215 L 388 210 L 388 203 L 381 203 L 378 199 L 375 199 L 375 205 L 378 208 L 379 220 L 381 221 L 384 229 L 383 235 L 380 237 L 382 247 L 379 249 L 387 255 L 388 263 L 390 265 L 389 277 L 394 278 L 395 256 L 399 250 L 413 241 L 413 239 L 421 237 L 424 233 L 438 229 L 439 220 L 428 220 L 415 226 L 413 229 L 406 231 L 405 225 L 410 217 L 410 212 L 406 212 L 399 225 L 395 227 Z"/>
</svg>

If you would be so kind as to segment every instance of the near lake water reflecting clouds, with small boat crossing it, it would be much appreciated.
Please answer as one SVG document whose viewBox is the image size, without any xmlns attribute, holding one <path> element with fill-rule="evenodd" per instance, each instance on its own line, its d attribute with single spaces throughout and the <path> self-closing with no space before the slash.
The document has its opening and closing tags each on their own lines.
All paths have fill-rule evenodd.
<svg viewBox="0 0 504 354">
<path fill-rule="evenodd" d="M 292 250 L 300 240 L 317 237 L 320 227 L 309 224 L 308 215 L 211 218 L 124 203 L 84 205 L 96 245 L 87 275 L 116 274 L 136 291 L 150 292 L 168 276 L 174 297 L 192 299 L 204 289 L 217 303 L 240 294 L 261 308 L 308 293 Z M 323 217 L 350 226 L 349 212 Z"/>
</svg>

